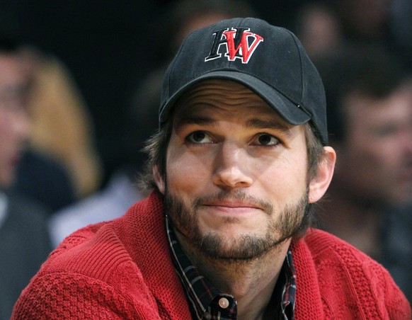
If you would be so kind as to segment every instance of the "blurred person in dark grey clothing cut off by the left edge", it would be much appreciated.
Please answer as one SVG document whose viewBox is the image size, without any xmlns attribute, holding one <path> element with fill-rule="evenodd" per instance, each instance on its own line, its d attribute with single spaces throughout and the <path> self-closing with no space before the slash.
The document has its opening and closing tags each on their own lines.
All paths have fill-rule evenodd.
<svg viewBox="0 0 412 320">
<path fill-rule="evenodd" d="M 0 36 L 0 319 L 50 253 L 46 210 L 10 191 L 30 137 L 28 78 L 18 47 Z"/>
</svg>

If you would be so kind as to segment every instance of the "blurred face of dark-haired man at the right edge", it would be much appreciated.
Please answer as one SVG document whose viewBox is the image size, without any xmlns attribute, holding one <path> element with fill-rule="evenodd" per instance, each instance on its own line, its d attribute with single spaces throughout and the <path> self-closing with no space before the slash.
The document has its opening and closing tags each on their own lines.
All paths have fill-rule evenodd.
<svg viewBox="0 0 412 320">
<path fill-rule="evenodd" d="M 345 105 L 348 135 L 339 179 L 361 199 L 412 200 L 412 88 L 382 100 L 353 95 Z"/>
</svg>

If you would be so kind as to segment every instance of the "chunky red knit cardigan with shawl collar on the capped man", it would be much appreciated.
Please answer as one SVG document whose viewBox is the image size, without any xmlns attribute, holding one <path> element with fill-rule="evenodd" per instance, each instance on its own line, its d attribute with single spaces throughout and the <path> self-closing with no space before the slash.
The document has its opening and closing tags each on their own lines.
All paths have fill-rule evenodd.
<svg viewBox="0 0 412 320">
<path fill-rule="evenodd" d="M 411 319 L 381 265 L 316 229 L 292 244 L 296 319 Z M 23 290 L 12 319 L 190 319 L 161 200 L 71 234 Z"/>
</svg>

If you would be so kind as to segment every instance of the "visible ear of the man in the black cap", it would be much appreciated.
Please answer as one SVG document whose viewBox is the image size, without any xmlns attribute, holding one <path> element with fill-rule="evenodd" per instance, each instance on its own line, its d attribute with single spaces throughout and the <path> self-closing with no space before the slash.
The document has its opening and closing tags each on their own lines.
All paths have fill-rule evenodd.
<svg viewBox="0 0 412 320">
<path fill-rule="evenodd" d="M 332 147 L 324 147 L 324 159 L 321 160 L 316 176 L 309 183 L 309 203 L 318 201 L 331 184 L 336 163 L 336 152 Z"/>
</svg>

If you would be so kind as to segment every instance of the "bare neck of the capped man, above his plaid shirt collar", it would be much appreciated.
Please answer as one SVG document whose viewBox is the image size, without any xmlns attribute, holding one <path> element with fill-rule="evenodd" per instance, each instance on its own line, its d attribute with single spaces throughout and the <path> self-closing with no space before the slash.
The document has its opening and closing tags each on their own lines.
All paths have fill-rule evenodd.
<svg viewBox="0 0 412 320">
<path fill-rule="evenodd" d="M 220 292 L 233 295 L 238 304 L 237 319 L 264 319 L 290 240 L 252 261 L 212 259 L 177 234 L 190 261 Z"/>
</svg>

